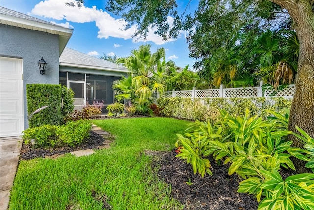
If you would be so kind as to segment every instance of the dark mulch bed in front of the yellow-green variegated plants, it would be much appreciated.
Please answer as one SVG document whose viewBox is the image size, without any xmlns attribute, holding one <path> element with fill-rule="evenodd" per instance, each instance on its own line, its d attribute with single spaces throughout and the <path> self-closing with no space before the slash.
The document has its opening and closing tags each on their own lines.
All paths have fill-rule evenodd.
<svg viewBox="0 0 314 210">
<path fill-rule="evenodd" d="M 185 204 L 186 210 L 256 210 L 256 198 L 237 193 L 241 181 L 235 174 L 228 175 L 228 166 L 218 166 L 209 159 L 213 176 L 194 175 L 191 165 L 175 157 L 176 152 L 161 155 L 160 179 L 171 185 L 171 195 Z"/>
</svg>

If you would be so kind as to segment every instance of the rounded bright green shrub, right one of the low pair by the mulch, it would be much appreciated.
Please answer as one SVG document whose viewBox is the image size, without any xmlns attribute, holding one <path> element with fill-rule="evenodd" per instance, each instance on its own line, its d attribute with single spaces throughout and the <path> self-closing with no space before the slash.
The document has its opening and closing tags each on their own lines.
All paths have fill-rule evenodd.
<svg viewBox="0 0 314 210">
<path fill-rule="evenodd" d="M 61 142 L 75 146 L 89 137 L 90 130 L 91 124 L 87 120 L 69 121 L 57 129 L 56 135 Z"/>
</svg>

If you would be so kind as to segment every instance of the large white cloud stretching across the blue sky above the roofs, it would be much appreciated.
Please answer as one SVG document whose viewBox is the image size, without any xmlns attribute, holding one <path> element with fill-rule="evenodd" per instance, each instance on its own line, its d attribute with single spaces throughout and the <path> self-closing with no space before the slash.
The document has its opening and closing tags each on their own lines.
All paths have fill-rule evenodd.
<svg viewBox="0 0 314 210">
<path fill-rule="evenodd" d="M 98 27 L 98 38 L 123 38 L 131 39 L 137 29 L 136 25 L 133 25 L 128 30 L 121 30 L 124 28 L 124 25 L 127 22 L 124 19 L 115 19 L 111 17 L 107 12 L 97 9 L 96 6 L 92 8 L 82 6 L 70 7 L 65 6 L 65 3 L 69 0 L 45 0 L 41 1 L 35 5 L 31 11 L 31 15 L 38 15 L 45 18 L 52 18 L 56 20 L 66 20 L 75 23 L 86 23 L 86 22 L 95 22 L 95 25 Z M 171 25 L 173 23 L 173 18 L 168 17 L 167 21 Z M 70 26 L 70 25 L 69 25 Z M 157 34 L 154 34 L 157 28 L 149 30 L 148 36 L 144 38 L 133 38 L 133 42 L 147 42 L 152 41 L 157 45 L 164 44 L 166 42 L 174 41 L 170 39 L 167 41 L 162 40 L 162 37 L 159 37 Z"/>
</svg>

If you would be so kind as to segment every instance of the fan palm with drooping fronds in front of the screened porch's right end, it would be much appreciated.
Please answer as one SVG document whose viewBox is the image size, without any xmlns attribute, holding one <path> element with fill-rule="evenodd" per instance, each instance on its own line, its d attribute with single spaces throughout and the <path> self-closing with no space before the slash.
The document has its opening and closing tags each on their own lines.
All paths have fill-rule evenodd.
<svg viewBox="0 0 314 210">
<path fill-rule="evenodd" d="M 151 53 L 150 48 L 149 44 L 141 45 L 139 49 L 132 50 L 129 57 L 117 60 L 117 63 L 124 65 L 130 71 L 128 83 L 132 88 L 129 87 L 128 90 L 132 90 L 132 94 L 120 89 L 123 88 L 120 87 L 122 81 L 114 86 L 120 93 L 116 96 L 117 98 L 127 99 L 128 97 L 136 106 L 137 111 L 143 113 L 150 111 L 153 93 L 163 92 L 166 89 L 164 72 L 173 64 L 171 61 L 165 62 L 164 48 L 158 48 L 154 53 Z M 127 79 L 122 80 L 125 82 Z"/>
</svg>

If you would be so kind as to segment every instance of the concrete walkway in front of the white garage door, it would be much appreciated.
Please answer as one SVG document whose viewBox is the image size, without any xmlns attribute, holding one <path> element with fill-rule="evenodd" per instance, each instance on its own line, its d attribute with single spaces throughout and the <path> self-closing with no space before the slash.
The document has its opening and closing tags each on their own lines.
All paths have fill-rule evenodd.
<svg viewBox="0 0 314 210">
<path fill-rule="evenodd" d="M 0 210 L 7 210 L 19 163 L 22 139 L 0 139 Z"/>
</svg>

